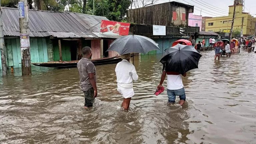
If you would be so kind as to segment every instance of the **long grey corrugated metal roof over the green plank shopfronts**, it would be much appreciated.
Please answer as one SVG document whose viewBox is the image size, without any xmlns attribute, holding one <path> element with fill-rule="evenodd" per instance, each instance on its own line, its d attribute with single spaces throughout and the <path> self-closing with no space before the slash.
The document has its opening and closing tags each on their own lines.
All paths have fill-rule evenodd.
<svg viewBox="0 0 256 144">
<path fill-rule="evenodd" d="M 19 36 L 18 9 L 2 7 L 2 12 L 4 35 Z M 99 32 L 101 20 L 108 20 L 101 16 L 41 10 L 29 10 L 28 16 L 31 37 L 97 38 L 93 32 Z"/>
</svg>

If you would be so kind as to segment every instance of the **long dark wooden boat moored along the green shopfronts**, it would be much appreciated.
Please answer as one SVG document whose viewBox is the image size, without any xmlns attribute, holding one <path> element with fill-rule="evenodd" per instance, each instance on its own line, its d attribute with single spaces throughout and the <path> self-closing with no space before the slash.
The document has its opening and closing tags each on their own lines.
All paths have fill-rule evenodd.
<svg viewBox="0 0 256 144">
<path fill-rule="evenodd" d="M 91 60 L 94 65 L 103 65 L 103 64 L 112 64 L 118 63 L 122 61 L 120 56 L 111 57 L 111 58 L 100 58 L 100 59 L 93 59 Z M 43 62 L 43 63 L 32 63 L 35 66 L 41 67 L 51 67 L 51 68 L 74 68 L 77 67 L 78 60 L 76 61 L 50 61 L 50 62 Z"/>
</svg>

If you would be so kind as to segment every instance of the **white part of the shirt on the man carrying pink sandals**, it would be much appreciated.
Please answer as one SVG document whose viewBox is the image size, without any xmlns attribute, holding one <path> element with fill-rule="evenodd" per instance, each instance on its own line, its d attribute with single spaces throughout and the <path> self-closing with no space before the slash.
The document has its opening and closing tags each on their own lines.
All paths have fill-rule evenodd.
<svg viewBox="0 0 256 144">
<path fill-rule="evenodd" d="M 181 74 L 179 75 L 167 75 L 167 89 L 178 90 L 183 88 Z"/>
</svg>

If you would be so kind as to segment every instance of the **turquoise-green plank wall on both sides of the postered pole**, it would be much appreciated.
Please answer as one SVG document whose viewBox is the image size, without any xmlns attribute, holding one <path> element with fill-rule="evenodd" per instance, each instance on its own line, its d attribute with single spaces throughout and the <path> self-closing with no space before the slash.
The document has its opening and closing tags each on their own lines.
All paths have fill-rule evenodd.
<svg viewBox="0 0 256 144">
<path fill-rule="evenodd" d="M 6 38 L 4 41 L 7 50 L 7 66 L 14 65 L 15 68 L 21 67 L 20 39 Z M 48 62 L 47 43 L 45 38 L 30 38 L 30 55 L 31 63 Z"/>
</svg>

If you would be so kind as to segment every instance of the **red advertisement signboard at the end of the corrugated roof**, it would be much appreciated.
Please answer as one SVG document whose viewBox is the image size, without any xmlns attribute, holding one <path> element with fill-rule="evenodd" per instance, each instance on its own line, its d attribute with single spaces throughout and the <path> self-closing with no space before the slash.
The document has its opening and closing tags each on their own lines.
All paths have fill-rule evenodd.
<svg viewBox="0 0 256 144">
<path fill-rule="evenodd" d="M 100 33 L 128 35 L 130 23 L 101 20 Z"/>
</svg>

